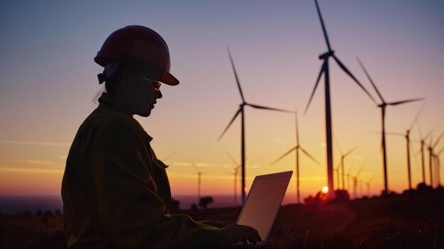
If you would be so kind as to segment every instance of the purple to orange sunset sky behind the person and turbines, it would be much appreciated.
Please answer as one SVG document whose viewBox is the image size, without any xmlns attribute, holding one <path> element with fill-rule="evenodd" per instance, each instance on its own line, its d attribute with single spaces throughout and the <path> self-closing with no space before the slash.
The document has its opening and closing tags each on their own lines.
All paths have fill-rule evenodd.
<svg viewBox="0 0 444 249">
<path fill-rule="evenodd" d="M 360 69 L 360 57 L 389 106 L 386 129 L 405 133 L 421 106 L 421 132 L 444 130 L 444 2 L 319 0 L 335 55 L 377 99 Z M 302 197 L 327 185 L 323 79 L 303 112 L 327 51 L 313 1 L 0 1 L 0 196 L 59 194 L 74 135 L 102 91 L 94 56 L 106 37 L 127 25 L 148 26 L 170 47 L 177 87 L 163 86 L 152 115 L 135 118 L 170 165 L 172 193 L 232 194 L 240 162 L 240 120 L 217 141 L 241 102 L 226 52 L 228 45 L 252 104 L 299 111 L 301 145 L 321 162 L 301 155 Z M 383 188 L 380 110 L 333 60 L 331 99 L 334 165 Z M 379 99 L 378 99 L 379 101 Z M 256 175 L 294 170 L 294 116 L 246 107 L 247 186 Z M 414 126 L 411 139 L 418 140 Z M 429 140 L 428 140 L 429 141 Z M 444 139 L 436 151 L 444 146 Z M 412 143 L 412 179 L 421 182 L 421 155 Z M 174 153 L 174 154 L 173 154 Z M 389 189 L 408 187 L 406 141 L 387 137 Z M 170 155 L 172 155 L 170 157 Z M 444 155 L 441 154 L 441 158 Z M 426 180 L 429 183 L 428 155 Z M 444 182 L 444 169 L 441 181 Z M 239 186 L 239 185 L 238 185 Z M 294 180 L 287 194 L 294 195 Z M 239 193 L 239 191 L 238 191 Z"/>
</svg>

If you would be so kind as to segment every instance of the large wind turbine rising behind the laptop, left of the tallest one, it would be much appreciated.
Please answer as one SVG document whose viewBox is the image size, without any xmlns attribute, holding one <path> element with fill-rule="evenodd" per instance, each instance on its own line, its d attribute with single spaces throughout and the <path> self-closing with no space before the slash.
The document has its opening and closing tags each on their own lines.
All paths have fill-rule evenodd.
<svg viewBox="0 0 444 249">
<path fill-rule="evenodd" d="M 243 97 L 242 89 L 240 88 L 240 82 L 238 78 L 238 73 L 236 72 L 236 69 L 234 67 L 233 58 L 231 57 L 230 49 L 227 47 L 228 50 L 228 56 L 230 57 L 231 67 L 233 67 L 234 76 L 236 79 L 236 83 L 238 84 L 238 89 L 240 93 L 240 98 L 242 99 L 242 103 L 239 106 L 238 111 L 234 114 L 233 118 L 231 119 L 230 123 L 228 123 L 228 126 L 223 130 L 221 135 L 219 136 L 218 140 L 221 140 L 223 137 L 223 134 L 226 133 L 228 128 L 230 128 L 231 124 L 240 114 L 240 161 L 241 161 L 241 169 L 242 169 L 242 204 L 245 204 L 245 112 L 244 108 L 245 106 L 250 106 L 255 109 L 262 109 L 262 110 L 270 110 L 270 111 L 282 111 L 287 113 L 292 113 L 292 111 L 282 110 L 282 109 L 276 109 L 266 106 L 259 106 L 256 104 L 250 104 L 245 101 L 245 98 Z"/>
</svg>

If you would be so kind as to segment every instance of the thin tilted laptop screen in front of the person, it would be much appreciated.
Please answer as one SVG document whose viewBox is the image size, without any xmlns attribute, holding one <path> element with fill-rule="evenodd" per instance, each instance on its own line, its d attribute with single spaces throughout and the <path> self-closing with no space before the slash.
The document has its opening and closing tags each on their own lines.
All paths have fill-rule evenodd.
<svg viewBox="0 0 444 249">
<path fill-rule="evenodd" d="M 252 226 L 262 240 L 267 240 L 292 171 L 257 176 L 238 218 L 239 225 Z"/>
</svg>

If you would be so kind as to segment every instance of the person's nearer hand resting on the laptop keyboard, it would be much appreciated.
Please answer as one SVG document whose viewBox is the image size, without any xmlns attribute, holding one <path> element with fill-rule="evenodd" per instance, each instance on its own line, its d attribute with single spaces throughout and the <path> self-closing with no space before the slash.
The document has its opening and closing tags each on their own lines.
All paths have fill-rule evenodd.
<svg viewBox="0 0 444 249">
<path fill-rule="evenodd" d="M 248 240 L 250 243 L 255 245 L 257 241 L 262 241 L 262 238 L 260 238 L 257 230 L 251 226 L 233 224 L 221 228 L 221 231 L 223 234 L 224 243 L 226 244 L 233 244 L 239 241 Z"/>
</svg>

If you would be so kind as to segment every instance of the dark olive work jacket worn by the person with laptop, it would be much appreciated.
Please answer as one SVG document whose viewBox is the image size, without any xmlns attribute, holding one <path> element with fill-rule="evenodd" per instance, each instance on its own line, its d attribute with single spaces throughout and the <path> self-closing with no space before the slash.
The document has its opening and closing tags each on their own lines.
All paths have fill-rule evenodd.
<svg viewBox="0 0 444 249">
<path fill-rule="evenodd" d="M 67 248 L 194 248 L 221 243 L 219 228 L 169 214 L 167 167 L 150 136 L 106 93 L 87 117 L 62 180 Z"/>
</svg>

